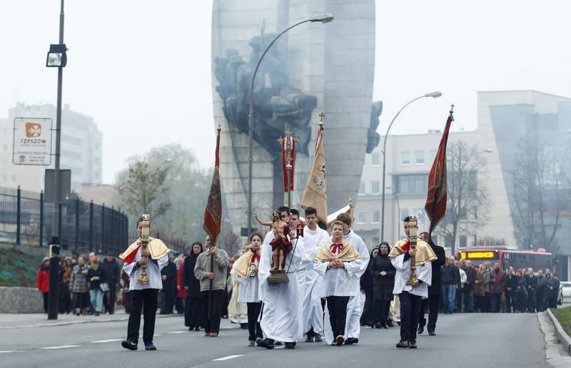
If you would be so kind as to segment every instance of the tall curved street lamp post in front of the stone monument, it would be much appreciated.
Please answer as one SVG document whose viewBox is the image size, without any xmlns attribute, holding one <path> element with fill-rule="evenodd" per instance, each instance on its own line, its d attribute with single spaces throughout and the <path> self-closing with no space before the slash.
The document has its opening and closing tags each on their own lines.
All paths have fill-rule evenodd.
<svg viewBox="0 0 571 368">
<path fill-rule="evenodd" d="M 285 32 L 293 29 L 300 24 L 308 23 L 308 22 L 321 22 L 323 24 L 329 23 L 333 21 L 333 15 L 330 13 L 321 14 L 319 16 L 314 16 L 310 19 L 305 19 L 304 21 L 300 21 L 293 26 L 289 26 L 287 29 L 283 30 L 281 34 L 278 34 L 266 47 L 266 50 L 263 51 L 258 63 L 256 64 L 256 68 L 254 69 L 254 73 L 252 74 L 252 83 L 250 86 L 250 109 L 248 112 L 248 233 L 251 232 L 252 229 L 252 145 L 253 145 L 253 117 L 254 117 L 254 82 L 256 81 L 256 73 L 258 73 L 258 68 L 263 60 L 263 57 L 266 56 L 266 53 L 271 48 L 271 46 L 278 41 L 281 35 L 285 34 Z"/>
</svg>

